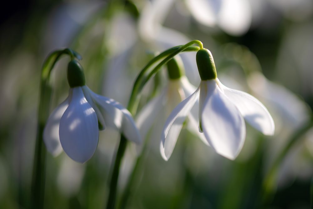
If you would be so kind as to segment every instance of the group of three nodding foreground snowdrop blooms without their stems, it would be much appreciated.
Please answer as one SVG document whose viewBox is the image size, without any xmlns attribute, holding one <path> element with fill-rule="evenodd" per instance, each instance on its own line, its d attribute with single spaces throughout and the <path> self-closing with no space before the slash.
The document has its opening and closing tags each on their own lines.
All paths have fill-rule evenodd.
<svg viewBox="0 0 313 209">
<path fill-rule="evenodd" d="M 244 144 L 244 119 L 261 133 L 274 134 L 273 118 L 259 100 L 218 80 L 209 50 L 198 50 L 196 60 L 201 77 L 198 88 L 187 80 L 179 57 L 168 63 L 168 86 L 138 114 L 140 131 L 126 108 L 85 86 L 83 68 L 72 60 L 68 65 L 69 96 L 52 112 L 44 129 L 47 149 L 58 155 L 63 148 L 70 158 L 84 163 L 95 152 L 99 129 L 112 126 L 140 144 L 161 113 L 165 125 L 161 135 L 156 135 L 161 137 L 160 151 L 165 160 L 170 158 L 186 118 L 193 133 L 228 159 L 235 159 Z"/>
</svg>

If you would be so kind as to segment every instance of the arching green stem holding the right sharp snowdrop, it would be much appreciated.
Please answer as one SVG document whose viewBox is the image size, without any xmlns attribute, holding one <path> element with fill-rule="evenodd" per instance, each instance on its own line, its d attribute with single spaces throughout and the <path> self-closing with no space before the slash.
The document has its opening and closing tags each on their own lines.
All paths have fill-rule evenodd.
<svg viewBox="0 0 313 209">
<path fill-rule="evenodd" d="M 191 46 L 193 44 L 198 44 L 199 47 Z M 157 55 L 150 62 L 148 62 L 148 64 L 141 70 L 141 72 L 137 76 L 137 79 L 134 83 L 134 86 L 133 86 L 133 89 L 131 92 L 131 97 L 129 99 L 128 106 L 127 106 L 127 109 L 131 112 L 131 114 L 132 115 L 136 114 L 139 99 L 140 99 L 141 90 L 146 85 L 147 81 L 160 70 L 162 65 L 166 64 L 169 60 L 171 60 L 175 55 L 179 54 L 180 52 L 198 51 L 199 49 L 203 49 L 202 42 L 198 41 L 198 40 L 193 40 L 193 41 L 191 41 L 191 42 L 189 42 L 183 46 L 172 47 L 172 48 L 162 52 L 161 54 Z M 166 57 L 166 58 L 164 60 L 162 60 L 153 70 L 150 70 L 151 66 L 154 63 L 158 62 L 159 60 L 161 60 L 164 57 Z M 111 173 L 112 177 L 111 177 L 111 181 L 110 181 L 110 193 L 109 193 L 108 202 L 107 202 L 107 206 L 106 206 L 107 209 L 115 208 L 117 179 L 118 179 L 118 175 L 119 175 L 119 170 L 120 170 L 119 168 L 121 165 L 121 160 L 122 160 L 123 155 L 124 155 L 125 150 L 126 150 L 126 145 L 127 145 L 126 138 L 123 135 L 121 135 L 120 144 L 119 144 L 119 147 L 117 149 L 114 166 L 113 166 L 113 170 Z M 139 162 L 137 159 L 137 162 L 136 162 L 136 165 L 135 165 L 133 172 L 136 172 L 136 168 L 138 167 L 138 165 L 137 165 L 138 163 Z M 131 179 L 133 179 L 133 178 L 131 178 Z"/>
</svg>

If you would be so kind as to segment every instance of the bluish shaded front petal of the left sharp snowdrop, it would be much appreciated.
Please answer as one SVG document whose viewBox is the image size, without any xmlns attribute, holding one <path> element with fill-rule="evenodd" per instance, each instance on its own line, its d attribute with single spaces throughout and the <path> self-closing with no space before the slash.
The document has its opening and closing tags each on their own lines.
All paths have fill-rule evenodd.
<svg viewBox="0 0 313 209">
<path fill-rule="evenodd" d="M 81 87 L 73 88 L 72 100 L 60 121 L 59 135 L 62 148 L 71 159 L 84 163 L 95 153 L 98 119 Z"/>
</svg>

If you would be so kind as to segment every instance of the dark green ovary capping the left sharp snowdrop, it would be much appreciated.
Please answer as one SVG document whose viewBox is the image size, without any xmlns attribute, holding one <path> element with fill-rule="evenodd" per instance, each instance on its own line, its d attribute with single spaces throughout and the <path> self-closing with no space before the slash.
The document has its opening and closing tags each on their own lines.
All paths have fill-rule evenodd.
<svg viewBox="0 0 313 209">
<path fill-rule="evenodd" d="M 67 66 L 67 81 L 69 86 L 85 86 L 84 69 L 77 60 L 71 60 Z"/>
</svg>

